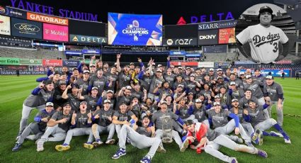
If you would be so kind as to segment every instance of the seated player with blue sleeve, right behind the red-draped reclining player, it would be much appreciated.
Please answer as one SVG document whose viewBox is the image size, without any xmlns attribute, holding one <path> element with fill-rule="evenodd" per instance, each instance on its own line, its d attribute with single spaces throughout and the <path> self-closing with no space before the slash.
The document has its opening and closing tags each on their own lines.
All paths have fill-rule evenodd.
<svg viewBox="0 0 301 163">
<path fill-rule="evenodd" d="M 221 109 L 219 102 L 213 103 L 213 106 L 214 109 L 207 111 L 208 120 L 210 125 L 212 125 L 212 128 L 222 134 L 229 134 L 232 133 L 232 131 L 234 131 L 236 135 L 240 133 L 240 135 L 244 139 L 245 144 L 249 147 L 254 147 L 251 144 L 251 137 L 246 134 L 246 131 L 239 123 L 239 117 L 234 113 L 229 112 L 228 110 Z M 232 118 L 232 120 L 229 121 L 228 117 Z M 233 137 L 232 139 L 235 140 L 235 138 L 237 137 Z"/>
</svg>

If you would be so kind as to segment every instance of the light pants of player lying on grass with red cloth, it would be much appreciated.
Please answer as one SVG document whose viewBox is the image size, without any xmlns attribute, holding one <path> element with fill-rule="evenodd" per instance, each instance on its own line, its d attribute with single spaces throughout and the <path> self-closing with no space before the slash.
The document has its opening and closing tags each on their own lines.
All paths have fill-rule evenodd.
<svg viewBox="0 0 301 163">
<path fill-rule="evenodd" d="M 227 147 L 231 150 L 240 151 L 240 152 L 247 152 L 251 154 L 257 154 L 258 150 L 255 147 L 248 147 L 246 145 L 239 145 L 236 142 L 230 140 L 225 135 L 219 135 L 215 138 L 215 140 L 208 142 L 208 144 L 204 147 L 206 153 L 221 159 L 224 162 L 232 162 L 232 157 L 228 157 L 222 152 L 219 151 L 220 146 Z"/>
</svg>

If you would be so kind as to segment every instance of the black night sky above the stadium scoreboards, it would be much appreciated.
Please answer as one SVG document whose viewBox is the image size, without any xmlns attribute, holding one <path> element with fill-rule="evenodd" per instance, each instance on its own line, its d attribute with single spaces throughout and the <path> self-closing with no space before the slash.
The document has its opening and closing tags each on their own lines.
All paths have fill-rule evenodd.
<svg viewBox="0 0 301 163">
<path fill-rule="evenodd" d="M 16 1 L 16 4 L 18 4 L 20 0 L 1 0 L 0 5 L 11 6 L 11 1 Z M 217 17 L 217 13 L 227 13 L 229 11 L 231 11 L 234 18 L 238 18 L 241 13 L 254 4 L 273 4 L 273 0 L 183 0 L 181 3 L 175 3 L 175 1 L 170 0 L 101 0 L 98 1 L 98 3 L 101 3 L 100 5 L 96 5 L 95 0 L 23 0 L 23 3 L 25 4 L 26 1 L 52 6 L 55 15 L 58 15 L 59 9 L 97 14 L 98 21 L 104 23 L 108 23 L 108 12 L 163 14 L 164 25 L 176 24 L 181 16 L 183 16 L 187 23 L 191 23 L 191 16 L 200 17 L 201 15 L 207 15 L 209 17 L 212 14 L 213 17 Z"/>
</svg>

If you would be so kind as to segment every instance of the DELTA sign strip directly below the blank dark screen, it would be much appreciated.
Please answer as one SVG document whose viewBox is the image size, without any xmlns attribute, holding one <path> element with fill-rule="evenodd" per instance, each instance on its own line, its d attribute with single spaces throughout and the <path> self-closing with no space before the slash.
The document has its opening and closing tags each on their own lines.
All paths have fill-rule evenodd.
<svg viewBox="0 0 301 163">
<path fill-rule="evenodd" d="M 89 35 L 73 35 L 70 34 L 69 42 L 73 43 L 91 43 L 91 44 L 107 44 L 108 39 L 104 37 L 94 37 Z"/>
</svg>

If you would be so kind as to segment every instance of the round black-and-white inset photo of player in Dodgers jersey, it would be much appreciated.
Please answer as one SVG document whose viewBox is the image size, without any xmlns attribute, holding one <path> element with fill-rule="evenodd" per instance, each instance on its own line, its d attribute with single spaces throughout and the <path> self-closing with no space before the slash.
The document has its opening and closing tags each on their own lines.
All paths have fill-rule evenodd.
<svg viewBox="0 0 301 163">
<path fill-rule="evenodd" d="M 296 41 L 295 23 L 275 4 L 256 4 L 246 9 L 238 19 L 236 38 L 239 52 L 252 62 L 297 59 L 290 52 Z"/>
</svg>

